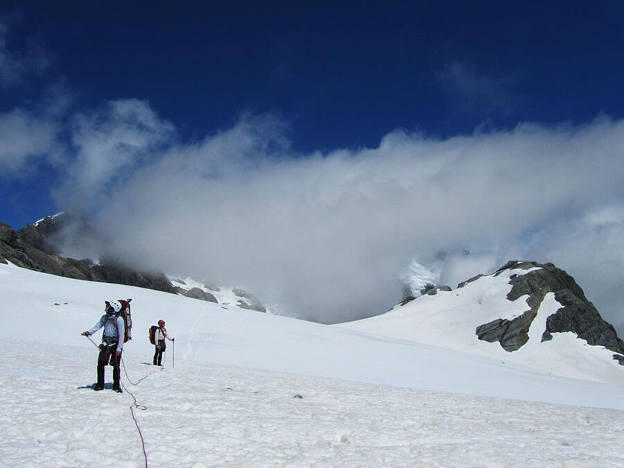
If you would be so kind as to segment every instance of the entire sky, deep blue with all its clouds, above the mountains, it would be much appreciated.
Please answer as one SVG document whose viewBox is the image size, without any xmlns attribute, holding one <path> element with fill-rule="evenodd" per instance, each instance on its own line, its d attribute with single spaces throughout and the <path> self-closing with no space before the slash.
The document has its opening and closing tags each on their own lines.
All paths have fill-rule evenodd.
<svg viewBox="0 0 624 468">
<path fill-rule="evenodd" d="M 325 321 L 414 259 L 553 261 L 624 327 L 621 2 L 83 3 L 0 6 L 3 223 L 115 220 Z"/>
</svg>

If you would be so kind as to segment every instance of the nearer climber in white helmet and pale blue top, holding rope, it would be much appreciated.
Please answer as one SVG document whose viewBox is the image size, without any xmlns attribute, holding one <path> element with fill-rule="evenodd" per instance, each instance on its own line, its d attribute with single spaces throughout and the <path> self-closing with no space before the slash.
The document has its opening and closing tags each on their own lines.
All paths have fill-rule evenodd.
<svg viewBox="0 0 624 468">
<path fill-rule="evenodd" d="M 98 356 L 98 381 L 94 386 L 94 390 L 104 389 L 104 367 L 107 364 L 113 366 L 113 390 L 121 393 L 119 387 L 119 361 L 121 360 L 121 352 L 123 350 L 123 338 L 125 333 L 125 324 L 121 317 L 122 305 L 119 301 L 104 302 L 105 314 L 100 320 L 87 331 L 83 331 L 84 336 L 90 336 L 102 327 L 104 333 L 102 335 L 102 343 L 100 344 L 100 354 Z"/>
</svg>

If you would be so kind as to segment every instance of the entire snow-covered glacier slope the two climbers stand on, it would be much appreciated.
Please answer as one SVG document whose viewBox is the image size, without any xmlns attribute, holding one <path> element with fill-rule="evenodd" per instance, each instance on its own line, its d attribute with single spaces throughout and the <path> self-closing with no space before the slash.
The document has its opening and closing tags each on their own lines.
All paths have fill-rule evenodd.
<svg viewBox="0 0 624 468">
<path fill-rule="evenodd" d="M 11 265 L 0 297 L 2 465 L 144 466 L 131 407 L 150 466 L 624 463 L 624 388 L 587 370 L 564 379 L 530 361 Z M 97 350 L 80 332 L 125 297 L 129 391 L 93 392 Z M 176 338 L 164 370 L 146 365 L 159 318 Z"/>
</svg>

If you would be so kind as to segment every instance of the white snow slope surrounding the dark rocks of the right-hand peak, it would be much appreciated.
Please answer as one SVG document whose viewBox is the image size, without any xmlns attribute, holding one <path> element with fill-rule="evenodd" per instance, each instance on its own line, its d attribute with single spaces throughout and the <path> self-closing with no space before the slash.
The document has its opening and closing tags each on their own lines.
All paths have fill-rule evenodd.
<svg viewBox="0 0 624 468">
<path fill-rule="evenodd" d="M 480 324 L 496 318 L 510 320 L 528 309 L 528 296 L 513 302 L 507 300 L 512 288 L 509 281 L 512 275 L 526 275 L 536 269 L 504 270 L 453 291 L 418 297 L 383 315 L 336 327 L 488 356 L 571 379 L 624 385 L 624 367 L 613 359 L 614 353 L 609 349 L 587 345 L 573 333 L 555 333 L 553 340 L 541 342 L 546 318 L 561 307 L 553 293 L 548 293 L 541 303 L 530 327 L 528 343 L 517 351 L 506 352 L 498 343 L 477 338 L 474 331 Z"/>
</svg>

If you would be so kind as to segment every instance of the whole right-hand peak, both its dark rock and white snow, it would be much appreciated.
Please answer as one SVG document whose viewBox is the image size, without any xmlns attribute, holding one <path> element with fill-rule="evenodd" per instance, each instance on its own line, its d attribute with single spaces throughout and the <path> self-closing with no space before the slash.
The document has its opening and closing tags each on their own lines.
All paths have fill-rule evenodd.
<svg viewBox="0 0 624 468">
<path fill-rule="evenodd" d="M 552 263 L 510 261 L 455 289 L 434 288 L 382 315 L 336 327 L 569 378 L 586 371 L 603 381 L 623 377 L 617 365 L 624 365 L 623 341 L 573 277 Z"/>
</svg>

